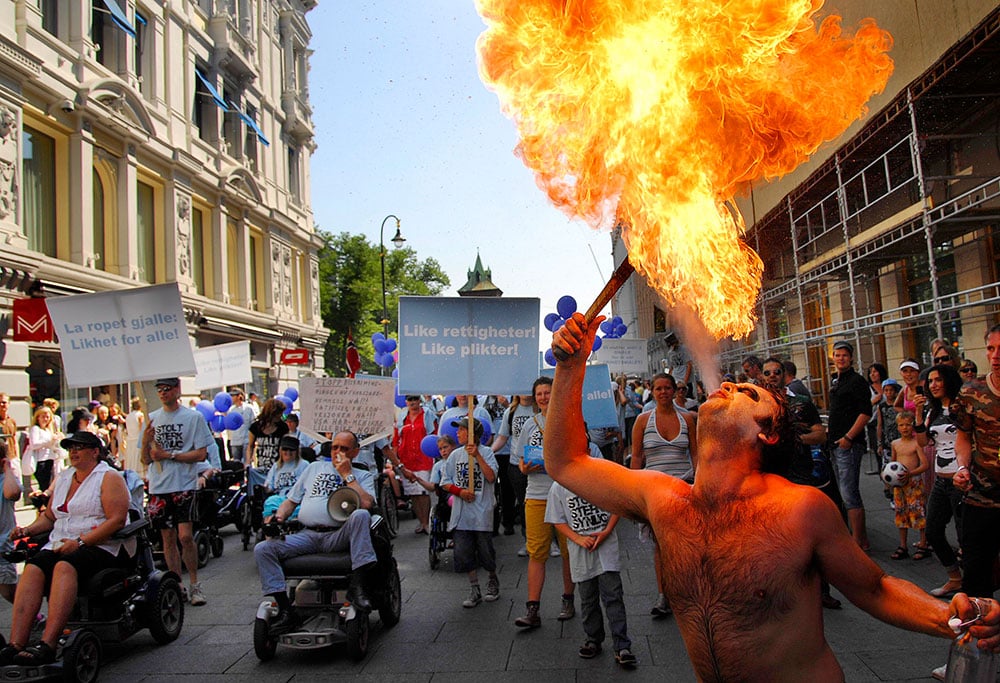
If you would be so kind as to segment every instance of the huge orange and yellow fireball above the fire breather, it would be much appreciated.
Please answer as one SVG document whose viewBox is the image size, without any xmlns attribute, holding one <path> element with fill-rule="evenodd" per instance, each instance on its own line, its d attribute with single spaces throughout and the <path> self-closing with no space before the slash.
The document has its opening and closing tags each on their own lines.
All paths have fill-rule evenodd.
<svg viewBox="0 0 1000 683">
<path fill-rule="evenodd" d="M 873 20 L 822 0 L 477 0 L 483 81 L 539 186 L 716 338 L 753 329 L 763 266 L 730 201 L 862 116 L 892 72 Z"/>
</svg>

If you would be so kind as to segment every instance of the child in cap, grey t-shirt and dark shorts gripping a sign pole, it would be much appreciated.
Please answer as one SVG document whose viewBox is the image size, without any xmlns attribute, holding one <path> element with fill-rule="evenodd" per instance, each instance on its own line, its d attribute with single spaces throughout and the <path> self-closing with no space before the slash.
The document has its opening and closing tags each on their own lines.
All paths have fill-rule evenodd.
<svg viewBox="0 0 1000 683">
<path fill-rule="evenodd" d="M 459 443 L 466 445 L 452 451 L 445 461 L 441 488 L 455 496 L 448 522 L 455 542 L 455 571 L 469 574 L 471 589 L 462 606 L 475 607 L 484 599 L 493 602 L 500 597 L 493 548 L 493 486 L 497 479 L 497 461 L 490 448 L 479 445 L 483 437 L 482 422 L 473 418 L 476 440 L 471 444 L 468 443 L 468 418 L 451 425 L 458 429 Z M 479 567 L 489 573 L 485 596 L 479 590 Z"/>
</svg>

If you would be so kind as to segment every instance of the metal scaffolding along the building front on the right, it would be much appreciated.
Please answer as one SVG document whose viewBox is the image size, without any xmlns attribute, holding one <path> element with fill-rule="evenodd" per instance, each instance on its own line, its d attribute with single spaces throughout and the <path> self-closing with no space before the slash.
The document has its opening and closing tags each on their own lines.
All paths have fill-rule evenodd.
<svg viewBox="0 0 1000 683">
<path fill-rule="evenodd" d="M 919 359 L 928 336 L 982 336 L 1000 310 L 998 63 L 1000 9 L 748 229 L 759 324 L 724 369 L 792 358 L 825 396 L 836 339 L 864 367 Z"/>
</svg>

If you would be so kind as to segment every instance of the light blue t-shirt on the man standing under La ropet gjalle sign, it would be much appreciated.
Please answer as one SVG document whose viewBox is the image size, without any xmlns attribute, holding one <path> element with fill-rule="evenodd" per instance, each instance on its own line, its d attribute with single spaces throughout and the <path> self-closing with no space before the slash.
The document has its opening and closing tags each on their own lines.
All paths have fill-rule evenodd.
<svg viewBox="0 0 1000 683">
<path fill-rule="evenodd" d="M 170 453 L 187 453 L 198 448 L 208 449 L 215 437 L 208 423 L 196 410 L 178 406 L 168 412 L 163 408 L 149 414 L 153 438 L 160 448 Z M 152 462 L 146 471 L 151 494 L 193 491 L 198 488 L 198 464 L 160 460 Z"/>
</svg>

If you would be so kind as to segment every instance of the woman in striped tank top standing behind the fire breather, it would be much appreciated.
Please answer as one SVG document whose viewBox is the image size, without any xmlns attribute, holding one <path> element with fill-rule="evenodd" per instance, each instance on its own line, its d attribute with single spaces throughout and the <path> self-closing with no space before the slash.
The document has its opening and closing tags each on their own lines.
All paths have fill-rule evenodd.
<svg viewBox="0 0 1000 683">
<path fill-rule="evenodd" d="M 678 410 L 674 403 L 677 382 L 673 376 L 659 373 L 653 376 L 653 400 L 656 408 L 639 415 L 632 428 L 632 463 L 634 470 L 656 470 L 687 482 L 694 481 L 697 464 L 695 416 Z M 663 593 L 663 575 L 659 548 L 653 540 L 653 567 L 656 569 L 656 603 L 653 616 L 670 614 L 670 605 Z"/>
</svg>

